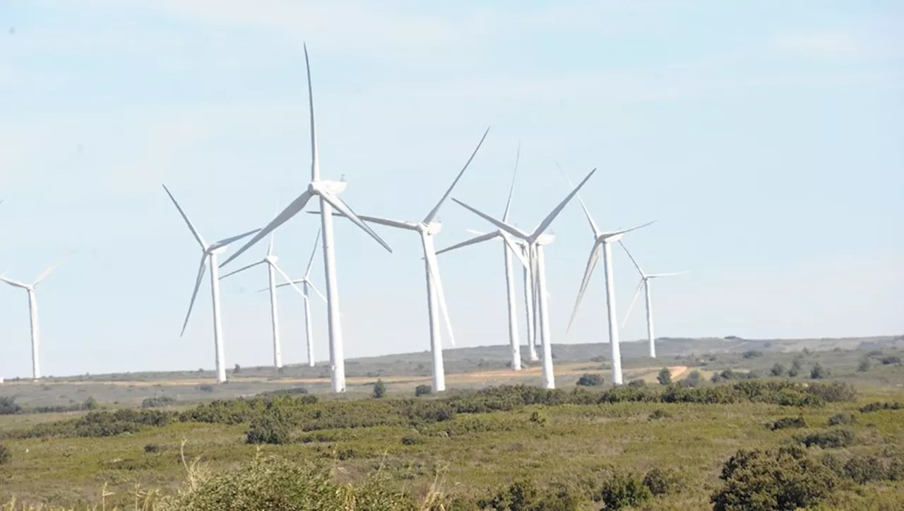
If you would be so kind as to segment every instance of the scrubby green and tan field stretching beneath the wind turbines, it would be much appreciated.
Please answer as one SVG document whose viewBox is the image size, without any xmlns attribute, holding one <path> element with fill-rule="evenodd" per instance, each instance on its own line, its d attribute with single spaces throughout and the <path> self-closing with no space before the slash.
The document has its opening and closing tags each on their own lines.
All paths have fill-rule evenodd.
<svg viewBox="0 0 904 511">
<path fill-rule="evenodd" d="M 381 399 L 370 396 L 374 378 L 366 375 L 353 377 L 350 393 L 335 397 L 325 393 L 323 380 L 267 377 L 255 370 L 243 370 L 212 392 L 199 391 L 204 382 L 185 375 L 144 382 L 95 376 L 5 383 L 0 395 L 15 395 L 22 410 L 0 415 L 0 444 L 10 454 L 0 464 L 0 502 L 15 498 L 16 506 L 67 509 L 100 506 L 101 501 L 107 508 L 131 509 L 136 501 L 149 506 L 154 495 L 186 489 L 186 464 L 192 460 L 216 476 L 247 470 L 255 457 L 275 456 L 297 466 L 314 462 L 340 485 L 367 487 L 367 481 L 380 478 L 381 487 L 406 502 L 438 498 L 447 509 L 475 509 L 500 492 L 511 496 L 506 488 L 521 481 L 541 496 L 557 496 L 552 500 L 561 506 L 570 505 L 570 499 L 575 504 L 512 509 L 600 509 L 602 496 L 619 487 L 613 481 L 626 483 L 619 490 L 624 493 L 628 483 L 659 468 L 672 480 L 668 491 L 638 497 L 636 506 L 625 508 L 711 509 L 711 496 L 724 484 L 720 472 L 739 449 L 810 443 L 805 456 L 833 478 L 831 491 L 817 499 L 819 508 L 901 509 L 904 410 L 862 409 L 872 402 L 904 402 L 904 367 L 894 359 L 902 353 L 894 347 L 865 349 L 871 347 L 803 353 L 747 348 L 712 355 L 701 350 L 657 361 L 671 367 L 676 381 L 696 371 L 701 381 L 694 387 L 659 384 L 659 367 L 649 359 L 628 359 L 626 379 L 647 383 L 614 391 L 605 383 L 575 390 L 580 374 L 607 380 L 607 364 L 600 359 L 565 363 L 564 356 L 557 360 L 563 388 L 554 393 L 529 386 L 494 390 L 493 385 L 536 384 L 539 374 L 536 369 L 513 374 L 492 364 L 449 374 L 449 387 L 456 390 L 418 398 L 415 387 L 429 380 L 417 370 L 383 374 L 388 392 Z M 861 366 L 864 359 L 869 367 Z M 794 378 L 776 377 L 770 374 L 776 364 L 800 370 Z M 825 378 L 810 378 L 816 364 Z M 710 382 L 712 374 L 729 368 L 734 370 L 730 379 Z M 758 378 L 748 379 L 750 371 Z M 796 386 L 779 388 L 789 382 Z M 856 395 L 818 390 L 828 383 L 852 384 Z M 231 400 L 300 386 L 309 393 Z M 117 419 L 109 412 L 34 410 L 77 406 L 88 396 L 103 411 L 128 407 L 136 412 Z M 154 396 L 174 402 L 139 417 L 137 405 Z M 213 400 L 221 401 L 209 404 Z M 771 429 L 782 418 L 802 418 L 805 425 Z M 250 444 L 250 430 L 262 432 L 257 440 L 278 443 Z M 839 431 L 841 444 L 833 445 Z M 825 459 L 826 454 L 832 457 Z M 861 466 L 882 470 L 862 476 Z M 394 506 L 359 503 L 355 508 Z"/>
</svg>

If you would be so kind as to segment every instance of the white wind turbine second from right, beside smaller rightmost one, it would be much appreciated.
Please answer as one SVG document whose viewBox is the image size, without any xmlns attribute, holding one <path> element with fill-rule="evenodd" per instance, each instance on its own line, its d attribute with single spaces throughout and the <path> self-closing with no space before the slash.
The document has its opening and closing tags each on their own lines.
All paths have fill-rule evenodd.
<svg viewBox="0 0 904 511">
<path fill-rule="evenodd" d="M 564 171 L 562 172 L 562 174 L 565 174 Z M 565 179 L 569 182 L 569 184 L 571 183 L 570 179 L 568 179 L 568 175 L 565 175 Z M 576 314 L 578 314 L 580 300 L 581 298 L 584 298 L 584 291 L 587 290 L 587 285 L 590 281 L 590 275 L 593 274 L 593 269 L 597 266 L 597 260 L 599 259 L 599 250 L 602 249 L 603 266 L 606 270 L 606 302 L 609 325 L 609 345 L 611 345 L 612 349 L 612 383 L 620 385 L 622 383 L 621 346 L 619 346 L 618 340 L 615 278 L 612 274 L 612 241 L 618 241 L 626 232 L 636 231 L 637 229 L 646 227 L 653 222 L 646 222 L 642 225 L 637 225 L 635 227 L 623 229 L 621 231 L 602 232 L 598 229 L 596 222 L 593 222 L 593 218 L 590 217 L 590 212 L 587 210 L 587 205 L 583 200 L 581 200 L 580 195 L 578 195 L 578 202 L 580 203 L 581 209 L 584 210 L 584 214 L 587 216 L 587 221 L 590 223 L 590 229 L 593 230 L 594 242 L 593 250 L 590 251 L 590 258 L 587 261 L 587 270 L 584 270 L 584 279 L 582 279 L 580 282 L 578 298 L 574 302 L 574 310 L 571 311 L 571 317 L 569 319 L 568 328 L 566 329 L 566 331 L 571 329 L 571 324 L 574 323 L 574 317 Z"/>
</svg>

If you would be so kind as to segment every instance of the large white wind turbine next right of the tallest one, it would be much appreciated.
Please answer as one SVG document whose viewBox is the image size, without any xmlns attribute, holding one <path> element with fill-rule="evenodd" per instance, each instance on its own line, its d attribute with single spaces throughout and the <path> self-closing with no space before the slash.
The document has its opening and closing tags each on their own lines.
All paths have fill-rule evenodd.
<svg viewBox="0 0 904 511">
<path fill-rule="evenodd" d="M 424 220 L 405 222 L 399 220 L 390 220 L 387 218 L 380 218 L 376 216 L 361 215 L 358 217 L 364 222 L 379 223 L 388 227 L 395 227 L 396 229 L 414 231 L 418 232 L 420 235 L 420 242 L 424 249 L 425 279 L 427 280 L 427 312 L 429 318 L 430 353 L 431 355 L 433 355 L 433 390 L 435 392 L 443 392 L 446 390 L 446 370 L 443 365 L 443 346 L 439 332 L 439 317 L 437 316 L 438 309 L 442 312 L 443 318 L 446 322 L 446 328 L 449 334 L 449 343 L 455 346 L 455 336 L 453 336 L 452 334 L 452 323 L 449 321 L 449 313 L 448 309 L 446 308 L 446 294 L 443 291 L 442 279 L 439 278 L 437 249 L 433 241 L 434 236 L 436 236 L 440 232 L 443 226 L 442 222 L 438 222 L 436 220 L 437 213 L 439 213 L 439 208 L 443 205 L 443 203 L 446 202 L 449 194 L 452 193 L 452 189 L 455 188 L 455 185 L 458 184 L 458 180 L 461 179 L 461 176 L 465 174 L 467 167 L 471 165 L 471 161 L 474 160 L 474 156 L 477 155 L 477 151 L 479 151 L 480 147 L 484 144 L 486 135 L 489 132 L 490 128 L 486 128 L 484 136 L 480 138 L 480 142 L 477 143 L 477 147 L 475 147 L 474 152 L 471 153 L 471 157 L 467 158 L 465 166 L 463 166 L 462 169 L 458 172 L 458 175 L 452 182 L 452 185 L 449 185 L 446 193 L 439 198 L 437 205 L 433 206 L 433 209 L 431 209 L 427 213 L 427 216 L 424 217 Z M 310 213 L 317 214 L 318 212 Z"/>
</svg>

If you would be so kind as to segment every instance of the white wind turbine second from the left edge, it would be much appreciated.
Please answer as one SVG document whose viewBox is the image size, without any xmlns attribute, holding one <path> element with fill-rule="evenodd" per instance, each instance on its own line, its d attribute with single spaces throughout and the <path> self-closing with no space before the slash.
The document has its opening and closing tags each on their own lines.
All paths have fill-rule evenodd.
<svg viewBox="0 0 904 511">
<path fill-rule="evenodd" d="M 194 308 L 194 298 L 198 296 L 198 289 L 201 288 L 201 281 L 204 279 L 204 272 L 207 271 L 207 265 L 211 265 L 211 295 L 213 298 L 213 347 L 214 353 L 216 357 L 217 364 L 217 382 L 224 383 L 226 381 L 226 355 L 223 354 L 223 339 L 222 339 L 222 321 L 220 318 L 220 267 L 217 266 L 217 256 L 222 252 L 226 251 L 229 248 L 229 244 L 233 241 L 239 241 L 240 239 L 249 236 L 250 234 L 254 234 L 255 232 L 259 232 L 259 229 L 255 229 L 249 232 L 242 232 L 237 236 L 231 236 L 229 238 L 225 238 L 220 241 L 216 241 L 212 244 L 207 244 L 207 241 L 201 237 L 201 233 L 198 232 L 197 229 L 194 228 L 192 221 L 188 219 L 188 215 L 182 209 L 182 206 L 176 202 L 173 194 L 170 193 L 169 188 L 164 186 L 164 190 L 166 194 L 169 195 L 171 201 L 175 205 L 175 209 L 179 210 L 179 214 L 182 215 L 182 219 L 185 221 L 185 224 L 188 225 L 188 229 L 192 232 L 194 239 L 198 241 L 198 244 L 201 245 L 201 265 L 198 267 L 198 276 L 194 279 L 194 290 L 192 291 L 192 301 L 188 303 L 188 313 L 185 314 L 185 321 L 182 324 L 182 332 L 179 336 L 184 336 L 185 327 L 188 326 L 188 318 L 192 317 L 192 308 Z"/>
</svg>

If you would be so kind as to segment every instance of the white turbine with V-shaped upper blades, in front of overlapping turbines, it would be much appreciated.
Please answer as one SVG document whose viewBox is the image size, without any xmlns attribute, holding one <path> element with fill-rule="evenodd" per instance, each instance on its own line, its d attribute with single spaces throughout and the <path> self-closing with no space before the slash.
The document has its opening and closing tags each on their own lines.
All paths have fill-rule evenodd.
<svg viewBox="0 0 904 511">
<path fill-rule="evenodd" d="M 578 194 L 580 187 L 587 183 L 587 180 L 592 176 L 597 169 L 594 168 L 590 171 L 587 177 L 584 178 L 580 184 L 575 187 L 574 190 L 556 206 L 555 209 L 548 215 L 546 218 L 540 222 L 540 225 L 537 226 L 533 232 L 525 232 L 507 222 L 502 222 L 494 219 L 492 216 L 483 213 L 466 203 L 463 203 L 457 199 L 452 199 L 453 201 L 461 204 L 467 210 L 472 213 L 476 213 L 478 216 L 484 218 L 487 222 L 493 223 L 499 229 L 502 229 L 509 234 L 512 234 L 515 238 L 521 239 L 525 241 L 528 245 L 530 251 L 532 251 L 532 258 L 530 259 L 532 264 L 532 275 L 536 276 L 537 288 L 534 289 L 534 295 L 537 297 L 537 304 L 539 306 L 538 312 L 540 313 L 540 334 L 541 334 L 541 345 L 543 350 L 543 362 L 542 362 L 542 374 L 543 374 L 543 387 L 547 389 L 554 389 L 556 386 L 555 383 L 555 375 L 552 373 L 552 339 L 550 334 L 550 316 L 549 316 L 549 303 L 547 300 L 546 294 L 546 263 L 543 259 L 543 246 L 551 243 L 553 236 L 551 234 L 545 234 L 544 232 L 550 226 L 553 220 L 555 220 L 556 216 L 559 215 L 562 209 L 565 208 L 565 205 L 569 203 L 572 197 L 575 194 Z"/>
</svg>

